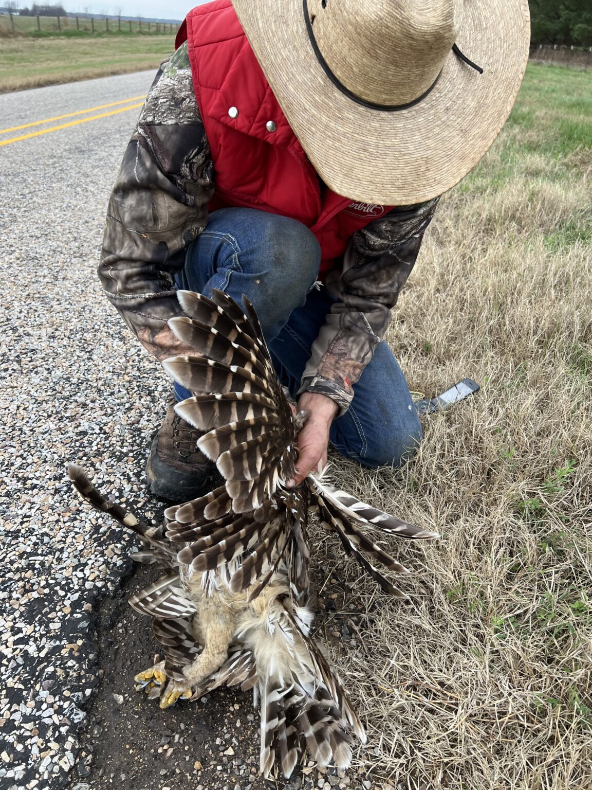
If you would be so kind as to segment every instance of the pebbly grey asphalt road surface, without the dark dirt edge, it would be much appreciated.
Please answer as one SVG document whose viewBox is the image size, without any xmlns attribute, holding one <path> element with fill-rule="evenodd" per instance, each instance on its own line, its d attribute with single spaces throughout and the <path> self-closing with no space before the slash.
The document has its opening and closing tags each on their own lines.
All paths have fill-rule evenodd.
<svg viewBox="0 0 592 790">
<path fill-rule="evenodd" d="M 169 383 L 96 276 L 107 201 L 139 112 L 128 107 L 152 77 L 0 96 L 2 790 L 93 781 L 81 739 L 101 685 L 97 610 L 129 574 L 133 541 L 81 504 L 66 462 L 93 468 L 144 512 L 158 506 L 143 468 Z M 132 694 L 140 668 L 128 670 Z M 164 784 L 146 777 L 151 790 Z"/>
</svg>

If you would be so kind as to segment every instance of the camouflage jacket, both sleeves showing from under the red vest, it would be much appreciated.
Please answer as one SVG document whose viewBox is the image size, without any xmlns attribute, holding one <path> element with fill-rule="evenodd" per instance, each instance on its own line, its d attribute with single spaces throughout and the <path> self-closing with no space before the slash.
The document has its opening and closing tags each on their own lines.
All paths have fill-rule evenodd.
<svg viewBox="0 0 592 790">
<path fill-rule="evenodd" d="M 163 62 L 111 193 L 99 277 L 129 328 L 158 359 L 179 352 L 167 320 L 181 315 L 174 274 L 208 224 L 212 156 L 193 92 L 187 44 Z M 356 231 L 328 288 L 338 296 L 313 345 L 301 392 L 345 412 L 418 256 L 437 199 Z"/>
</svg>

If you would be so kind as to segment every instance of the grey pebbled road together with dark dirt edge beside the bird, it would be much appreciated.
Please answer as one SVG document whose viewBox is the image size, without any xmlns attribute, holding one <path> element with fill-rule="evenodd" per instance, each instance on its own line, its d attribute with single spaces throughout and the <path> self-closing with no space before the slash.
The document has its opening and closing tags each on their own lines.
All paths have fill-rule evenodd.
<svg viewBox="0 0 592 790">
<path fill-rule="evenodd" d="M 0 790 L 269 786 L 247 695 L 219 690 L 160 712 L 133 690 L 156 645 L 126 599 L 152 569 L 134 574 L 133 538 L 66 476 L 74 461 L 143 517 L 163 510 L 144 465 L 170 382 L 96 276 L 152 77 L 0 96 Z M 370 784 L 310 763 L 296 773 L 273 786 Z"/>
</svg>

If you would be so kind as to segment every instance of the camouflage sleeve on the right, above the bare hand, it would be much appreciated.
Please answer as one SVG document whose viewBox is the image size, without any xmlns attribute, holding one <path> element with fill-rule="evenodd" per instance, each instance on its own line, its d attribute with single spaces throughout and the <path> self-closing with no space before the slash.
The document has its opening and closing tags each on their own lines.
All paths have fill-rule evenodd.
<svg viewBox="0 0 592 790">
<path fill-rule="evenodd" d="M 352 386 L 384 338 L 438 200 L 395 209 L 354 234 L 340 278 L 328 280 L 338 300 L 313 344 L 299 393 L 326 395 L 341 414 L 347 411 Z"/>
</svg>

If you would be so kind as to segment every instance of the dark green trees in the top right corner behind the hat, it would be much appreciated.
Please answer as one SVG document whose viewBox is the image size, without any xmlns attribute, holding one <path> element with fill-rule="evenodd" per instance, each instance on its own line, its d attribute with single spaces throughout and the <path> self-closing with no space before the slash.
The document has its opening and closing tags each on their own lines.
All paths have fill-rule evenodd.
<svg viewBox="0 0 592 790">
<path fill-rule="evenodd" d="M 529 5 L 532 43 L 592 47 L 590 0 L 530 0 Z"/>
</svg>

